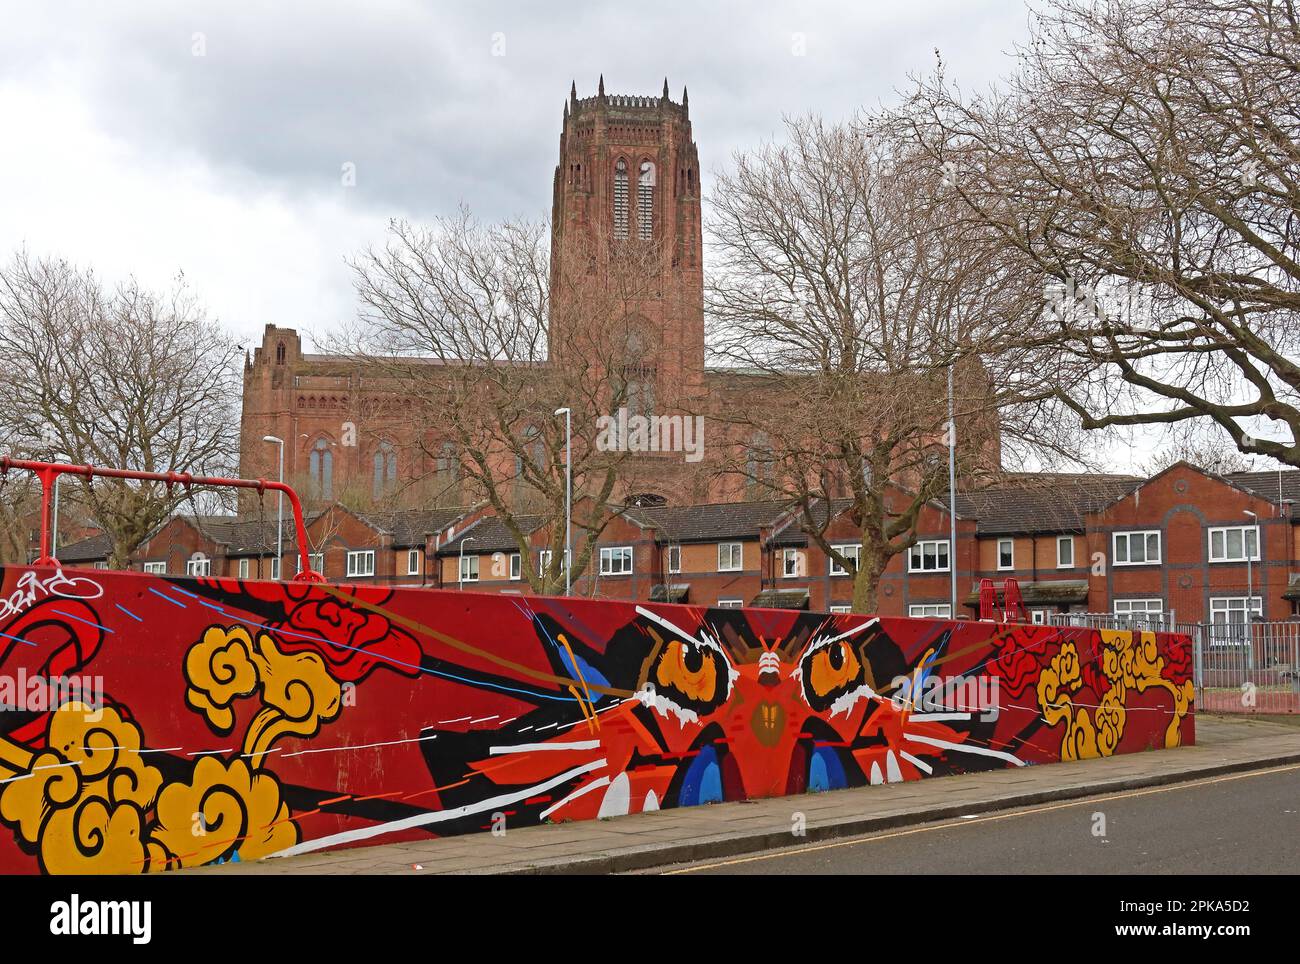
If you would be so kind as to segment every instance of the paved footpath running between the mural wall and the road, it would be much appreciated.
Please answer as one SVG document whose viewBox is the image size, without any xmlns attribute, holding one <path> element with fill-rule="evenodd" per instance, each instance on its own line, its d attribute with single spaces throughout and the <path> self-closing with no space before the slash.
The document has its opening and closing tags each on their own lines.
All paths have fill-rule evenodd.
<svg viewBox="0 0 1300 964">
<path fill-rule="evenodd" d="M 1300 720 L 1197 717 L 1195 747 L 612 820 L 198 868 L 190 873 L 618 873 L 1300 763 Z M 803 824 L 803 837 L 792 829 Z"/>
</svg>

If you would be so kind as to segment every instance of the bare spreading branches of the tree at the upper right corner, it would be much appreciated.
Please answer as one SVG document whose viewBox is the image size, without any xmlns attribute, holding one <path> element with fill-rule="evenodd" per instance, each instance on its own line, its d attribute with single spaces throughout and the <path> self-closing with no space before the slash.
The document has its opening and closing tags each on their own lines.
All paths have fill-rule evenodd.
<svg viewBox="0 0 1300 964">
<path fill-rule="evenodd" d="M 1086 427 L 1209 422 L 1300 465 L 1294 0 L 1050 0 L 1008 83 L 940 71 L 911 120 L 1044 286 Z"/>
</svg>

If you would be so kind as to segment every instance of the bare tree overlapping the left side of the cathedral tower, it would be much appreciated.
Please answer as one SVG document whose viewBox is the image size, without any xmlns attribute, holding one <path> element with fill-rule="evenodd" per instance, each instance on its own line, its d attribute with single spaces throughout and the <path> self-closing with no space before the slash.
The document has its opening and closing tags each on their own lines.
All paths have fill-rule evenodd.
<svg viewBox="0 0 1300 964">
<path fill-rule="evenodd" d="M 634 490 L 634 453 L 603 443 L 602 416 L 642 394 L 655 344 L 636 305 L 662 257 L 629 240 L 552 260 L 550 236 L 546 223 L 484 226 L 464 210 L 430 229 L 394 223 L 385 247 L 354 261 L 361 323 L 347 339 L 372 395 L 417 427 L 426 461 L 443 472 L 441 463 L 455 460 L 471 494 L 515 537 L 537 592 L 564 586 L 558 409 L 571 409 L 572 422 L 573 579 L 621 512 L 618 499 Z M 524 518 L 538 514 L 550 538 L 545 569 Z"/>
</svg>

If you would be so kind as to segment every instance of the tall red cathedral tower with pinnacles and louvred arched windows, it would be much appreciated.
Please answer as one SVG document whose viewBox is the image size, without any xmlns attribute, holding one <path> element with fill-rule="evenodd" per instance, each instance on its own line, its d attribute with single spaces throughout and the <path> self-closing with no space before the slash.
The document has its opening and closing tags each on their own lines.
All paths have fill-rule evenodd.
<svg viewBox="0 0 1300 964">
<path fill-rule="evenodd" d="M 580 99 L 572 86 L 551 223 L 551 356 L 563 361 L 572 326 L 630 321 L 646 346 L 638 407 L 680 411 L 699 394 L 705 366 L 699 156 L 686 91 L 670 100 L 666 79 L 658 97 L 612 95 L 602 75 L 595 96 Z M 575 309 L 584 287 L 602 288 L 592 311 Z M 616 287 L 629 292 L 621 303 L 607 296 Z"/>
</svg>

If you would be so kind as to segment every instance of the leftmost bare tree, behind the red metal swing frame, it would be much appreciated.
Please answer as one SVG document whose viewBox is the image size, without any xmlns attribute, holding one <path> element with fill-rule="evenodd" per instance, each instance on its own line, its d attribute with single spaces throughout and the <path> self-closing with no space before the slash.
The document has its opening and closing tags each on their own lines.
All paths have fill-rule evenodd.
<svg viewBox="0 0 1300 964">
<path fill-rule="evenodd" d="M 134 279 L 107 290 L 88 270 L 26 252 L 0 269 L 0 366 L 10 373 L 0 379 L 0 427 L 16 453 L 229 473 L 238 353 L 183 281 L 165 292 Z M 68 494 L 112 538 L 114 568 L 188 495 L 117 479 L 81 479 Z"/>
</svg>

